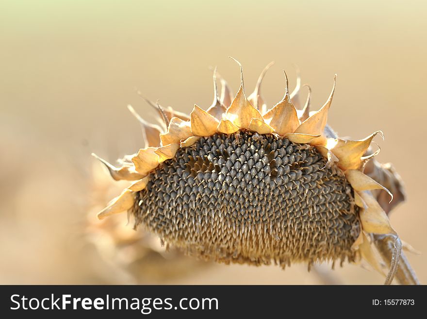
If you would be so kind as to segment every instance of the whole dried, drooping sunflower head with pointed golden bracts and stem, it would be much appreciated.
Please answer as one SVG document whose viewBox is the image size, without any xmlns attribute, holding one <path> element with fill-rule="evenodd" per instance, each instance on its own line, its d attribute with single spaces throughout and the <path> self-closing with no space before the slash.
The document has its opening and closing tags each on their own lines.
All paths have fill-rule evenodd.
<svg viewBox="0 0 427 319">
<path fill-rule="evenodd" d="M 248 98 L 239 66 L 241 85 L 234 99 L 223 79 L 218 97 L 214 75 L 214 101 L 206 111 L 195 105 L 188 116 L 157 104 L 164 129 L 129 107 L 143 127 L 146 147 L 126 156 L 120 168 L 103 161 L 115 180 L 134 182 L 98 217 L 128 211 L 135 228 L 143 225 L 198 258 L 253 265 L 274 261 L 283 268 L 363 258 L 384 273 L 374 248 L 375 240 L 383 240 L 391 249 L 385 256 L 386 283 L 398 269 L 407 269 L 407 277 L 416 281 L 407 263 L 398 267 L 404 258 L 401 241 L 381 207 L 391 209 L 393 195 L 378 180 L 394 183 L 402 200 L 400 180 L 375 164 L 374 178 L 364 173 L 378 154 L 370 151 L 371 142 L 382 132 L 361 140 L 336 136 L 327 125 L 335 78 L 326 103 L 310 112 L 310 88 L 304 107 L 297 109 L 299 77 L 290 93 L 285 73 L 285 95 L 267 110 L 260 86 L 269 66 Z"/>
</svg>

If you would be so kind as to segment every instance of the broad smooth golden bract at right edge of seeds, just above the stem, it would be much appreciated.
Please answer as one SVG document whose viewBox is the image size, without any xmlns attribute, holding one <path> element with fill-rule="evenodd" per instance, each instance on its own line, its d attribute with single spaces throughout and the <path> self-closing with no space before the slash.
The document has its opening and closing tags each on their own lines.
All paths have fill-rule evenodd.
<svg viewBox="0 0 427 319">
<path fill-rule="evenodd" d="M 396 235 L 386 213 L 382 210 L 381 206 L 379 206 L 378 201 L 372 197 L 370 192 L 361 191 L 358 192 L 358 194 L 368 206 L 367 209 L 361 210 L 359 213 L 363 230 L 366 233 Z"/>
</svg>

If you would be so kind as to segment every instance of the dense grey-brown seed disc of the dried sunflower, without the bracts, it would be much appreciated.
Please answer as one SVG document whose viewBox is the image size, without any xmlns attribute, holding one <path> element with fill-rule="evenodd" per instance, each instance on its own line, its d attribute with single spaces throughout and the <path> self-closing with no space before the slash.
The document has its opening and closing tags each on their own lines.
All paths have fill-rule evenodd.
<svg viewBox="0 0 427 319">
<path fill-rule="evenodd" d="M 270 264 L 353 261 L 353 190 L 315 147 L 239 131 L 177 151 L 136 193 L 131 213 L 202 259 Z"/>
</svg>

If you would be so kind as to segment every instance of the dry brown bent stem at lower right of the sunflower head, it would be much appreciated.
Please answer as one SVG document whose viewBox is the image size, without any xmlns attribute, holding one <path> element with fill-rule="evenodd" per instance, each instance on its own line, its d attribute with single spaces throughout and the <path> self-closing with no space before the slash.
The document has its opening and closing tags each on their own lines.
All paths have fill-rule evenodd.
<svg viewBox="0 0 427 319">
<path fill-rule="evenodd" d="M 374 240 L 378 252 L 390 268 L 386 284 L 391 282 L 394 276 L 400 285 L 420 285 L 414 270 L 403 252 L 400 252 L 400 258 L 396 265 L 396 255 L 398 255 L 398 251 L 401 250 L 401 243 L 398 237 L 396 238 L 391 235 L 374 235 Z"/>
</svg>

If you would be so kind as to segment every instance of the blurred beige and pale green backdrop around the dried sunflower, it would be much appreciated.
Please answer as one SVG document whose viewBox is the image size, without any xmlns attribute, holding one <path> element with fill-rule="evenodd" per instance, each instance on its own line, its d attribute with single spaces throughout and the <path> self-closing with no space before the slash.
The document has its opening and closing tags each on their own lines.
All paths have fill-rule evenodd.
<svg viewBox="0 0 427 319">
<path fill-rule="evenodd" d="M 269 106 L 284 93 L 282 69 L 312 87 L 312 107 L 337 88 L 329 124 L 363 138 L 376 130 L 380 162 L 392 162 L 408 200 L 391 215 L 427 282 L 427 19 L 425 1 L 82 1 L 0 2 L 1 284 L 322 284 L 306 265 L 283 271 L 198 262 L 134 233 L 126 216 L 115 236 L 95 215 L 120 192 L 91 152 L 115 159 L 142 147 L 135 93 L 190 112 L 213 100 L 212 71 L 234 92 L 244 66 L 250 93 L 263 67 Z M 306 92 L 303 90 L 302 99 Z M 113 227 L 111 226 L 111 227 Z M 383 278 L 346 264 L 343 284 Z M 323 279 L 322 279 L 323 278 Z"/>
</svg>

